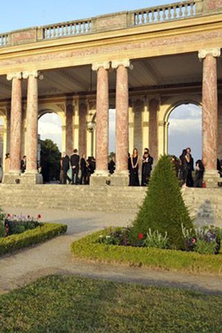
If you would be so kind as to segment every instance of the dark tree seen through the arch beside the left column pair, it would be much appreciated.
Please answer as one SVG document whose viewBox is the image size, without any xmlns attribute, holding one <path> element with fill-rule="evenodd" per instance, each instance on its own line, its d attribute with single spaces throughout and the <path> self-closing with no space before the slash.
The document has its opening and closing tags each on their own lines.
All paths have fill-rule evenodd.
<svg viewBox="0 0 222 333">
<path fill-rule="evenodd" d="M 57 144 L 46 139 L 41 142 L 41 167 L 44 182 L 60 179 L 61 154 Z"/>
</svg>

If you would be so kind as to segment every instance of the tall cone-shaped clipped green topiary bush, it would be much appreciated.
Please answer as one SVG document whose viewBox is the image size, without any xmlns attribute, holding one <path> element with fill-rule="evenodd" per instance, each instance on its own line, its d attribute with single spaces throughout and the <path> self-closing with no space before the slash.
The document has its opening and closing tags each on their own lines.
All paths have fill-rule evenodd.
<svg viewBox="0 0 222 333">
<path fill-rule="evenodd" d="M 137 241 L 138 234 L 145 235 L 149 229 L 158 230 L 163 236 L 167 232 L 170 247 L 185 250 L 181 224 L 194 228 L 171 160 L 164 155 L 153 171 L 146 198 L 133 222 L 131 237 Z"/>
</svg>

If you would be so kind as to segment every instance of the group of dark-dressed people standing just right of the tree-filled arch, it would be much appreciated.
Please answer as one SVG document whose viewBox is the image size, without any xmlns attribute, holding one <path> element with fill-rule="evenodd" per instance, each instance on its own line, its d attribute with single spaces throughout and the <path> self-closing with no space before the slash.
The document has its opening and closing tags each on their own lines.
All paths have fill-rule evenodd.
<svg viewBox="0 0 222 333">
<path fill-rule="evenodd" d="M 71 174 L 69 174 L 70 168 Z M 86 160 L 85 154 L 80 158 L 78 150 L 74 149 L 74 154 L 70 158 L 67 153 L 62 153 L 60 170 L 61 184 L 67 184 L 68 181 L 72 185 L 89 185 L 89 178 L 96 170 L 96 160 L 94 157 L 88 157 Z"/>
</svg>

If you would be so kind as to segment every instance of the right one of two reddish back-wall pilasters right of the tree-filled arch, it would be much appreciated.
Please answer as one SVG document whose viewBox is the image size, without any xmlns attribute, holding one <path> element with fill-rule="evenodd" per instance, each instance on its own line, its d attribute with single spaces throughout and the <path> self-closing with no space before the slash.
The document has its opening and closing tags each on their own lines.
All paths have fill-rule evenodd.
<svg viewBox="0 0 222 333">
<path fill-rule="evenodd" d="M 78 147 L 80 155 L 86 155 L 86 115 L 87 115 L 87 104 L 80 103 L 79 106 L 79 131 L 78 131 Z"/>
</svg>

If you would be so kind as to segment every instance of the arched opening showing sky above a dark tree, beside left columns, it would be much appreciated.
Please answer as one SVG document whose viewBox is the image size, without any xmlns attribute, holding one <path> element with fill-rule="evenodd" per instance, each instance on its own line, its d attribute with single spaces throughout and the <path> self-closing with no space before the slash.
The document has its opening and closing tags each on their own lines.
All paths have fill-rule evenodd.
<svg viewBox="0 0 222 333">
<path fill-rule="evenodd" d="M 56 112 L 44 110 L 38 121 L 38 163 L 44 183 L 60 180 L 60 153 L 62 151 L 62 120 Z"/>
</svg>

